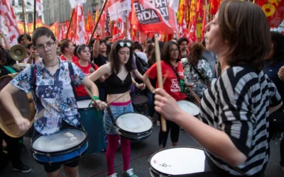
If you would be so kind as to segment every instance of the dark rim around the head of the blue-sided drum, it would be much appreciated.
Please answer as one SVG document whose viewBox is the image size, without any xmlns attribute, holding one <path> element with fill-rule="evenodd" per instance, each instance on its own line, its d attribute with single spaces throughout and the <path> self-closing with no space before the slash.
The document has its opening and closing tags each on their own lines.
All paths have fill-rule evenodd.
<svg viewBox="0 0 284 177">
<path fill-rule="evenodd" d="M 69 152 L 72 152 L 73 150 L 77 149 L 78 147 L 82 147 L 84 146 L 84 144 L 86 144 L 86 142 L 88 141 L 88 134 L 85 130 L 83 130 L 82 128 L 79 128 L 79 127 L 69 127 L 69 128 L 63 128 L 61 130 L 81 130 L 82 132 L 84 132 L 84 134 L 86 135 L 86 137 L 84 138 L 84 140 L 80 143 L 80 144 L 77 144 L 75 147 L 71 147 L 69 149 L 65 149 L 65 150 L 62 150 L 62 151 L 58 151 L 58 152 L 43 152 L 43 151 L 39 151 L 37 149 L 34 149 L 33 148 L 33 143 L 35 142 L 36 139 L 38 139 L 39 137 L 41 136 L 44 136 L 44 135 L 38 135 L 36 136 L 32 142 L 31 142 L 31 151 L 35 154 L 41 154 L 41 155 L 61 155 L 61 154 L 66 154 L 66 153 L 69 153 Z M 36 130 L 35 130 L 36 131 Z M 59 132 L 59 131 L 58 131 Z"/>
</svg>

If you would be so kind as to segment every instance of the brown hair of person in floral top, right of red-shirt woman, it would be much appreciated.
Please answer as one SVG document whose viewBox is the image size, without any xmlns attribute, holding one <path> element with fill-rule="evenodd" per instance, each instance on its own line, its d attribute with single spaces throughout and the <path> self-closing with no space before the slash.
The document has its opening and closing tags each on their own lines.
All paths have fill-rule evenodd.
<svg viewBox="0 0 284 177">
<path fill-rule="evenodd" d="M 195 67 L 200 61 L 200 59 L 202 59 L 202 53 L 204 51 L 204 47 L 201 43 L 193 42 L 192 44 L 190 44 L 189 50 L 190 50 L 190 55 L 188 55 L 187 60 L 190 63 L 190 65 Z"/>
</svg>

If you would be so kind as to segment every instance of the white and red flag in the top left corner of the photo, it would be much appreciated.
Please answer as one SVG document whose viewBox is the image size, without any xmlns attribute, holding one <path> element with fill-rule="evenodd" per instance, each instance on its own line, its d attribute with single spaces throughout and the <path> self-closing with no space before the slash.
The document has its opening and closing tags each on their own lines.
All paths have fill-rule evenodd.
<svg viewBox="0 0 284 177">
<path fill-rule="evenodd" d="M 16 15 L 13 11 L 12 1 L 0 1 L 0 28 L 9 38 L 11 45 L 18 43 L 17 38 L 20 35 Z"/>
</svg>

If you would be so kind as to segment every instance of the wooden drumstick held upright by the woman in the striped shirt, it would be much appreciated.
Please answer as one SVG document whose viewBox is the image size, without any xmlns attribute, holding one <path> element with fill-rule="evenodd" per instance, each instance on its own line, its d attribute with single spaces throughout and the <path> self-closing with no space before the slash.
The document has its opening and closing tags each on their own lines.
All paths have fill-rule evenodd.
<svg viewBox="0 0 284 177">
<path fill-rule="evenodd" d="M 162 79 L 162 67 L 160 65 L 160 47 L 158 42 L 158 35 L 155 35 L 155 61 L 157 62 L 157 75 L 158 75 L 158 86 L 160 89 L 163 89 L 163 79 Z M 167 124 L 165 122 L 165 118 L 163 116 L 160 116 L 161 120 L 161 127 L 162 131 L 167 131 Z"/>
</svg>

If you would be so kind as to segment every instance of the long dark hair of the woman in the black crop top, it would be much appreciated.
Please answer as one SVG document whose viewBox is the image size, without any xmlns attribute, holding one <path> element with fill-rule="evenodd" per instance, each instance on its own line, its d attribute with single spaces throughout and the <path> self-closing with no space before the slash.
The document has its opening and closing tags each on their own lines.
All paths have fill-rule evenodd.
<svg viewBox="0 0 284 177">
<path fill-rule="evenodd" d="M 114 72 L 114 74 L 118 74 L 121 71 L 118 52 L 123 47 L 119 45 L 120 42 L 131 43 L 131 47 L 129 47 L 129 50 L 130 50 L 129 61 L 127 61 L 127 63 L 125 64 L 125 67 L 128 72 L 131 72 L 131 70 L 133 69 L 133 66 L 132 66 L 133 47 L 132 47 L 131 40 L 116 40 L 116 42 L 114 42 L 113 47 L 111 47 L 111 52 L 109 53 L 109 62 L 111 63 L 111 72 Z M 128 47 L 128 46 L 124 45 L 124 47 Z"/>
</svg>

